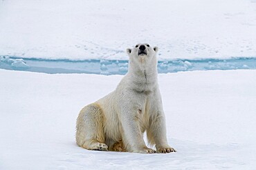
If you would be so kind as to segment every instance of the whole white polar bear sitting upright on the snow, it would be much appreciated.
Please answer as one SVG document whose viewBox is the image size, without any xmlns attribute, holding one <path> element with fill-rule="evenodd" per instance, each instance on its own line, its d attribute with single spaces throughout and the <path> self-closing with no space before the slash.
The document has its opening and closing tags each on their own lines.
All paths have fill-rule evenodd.
<svg viewBox="0 0 256 170">
<path fill-rule="evenodd" d="M 129 69 L 116 90 L 86 105 L 77 117 L 77 145 L 89 150 L 170 153 L 157 82 L 158 47 L 127 49 Z M 146 131 L 150 149 L 145 145 Z"/>
</svg>

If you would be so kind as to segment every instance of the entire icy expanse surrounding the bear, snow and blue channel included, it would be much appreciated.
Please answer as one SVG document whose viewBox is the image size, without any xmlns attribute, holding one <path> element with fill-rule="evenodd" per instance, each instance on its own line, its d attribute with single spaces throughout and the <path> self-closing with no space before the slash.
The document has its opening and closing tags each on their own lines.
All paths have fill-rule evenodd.
<svg viewBox="0 0 256 170">
<path fill-rule="evenodd" d="M 255 169 L 256 70 L 230 70 L 255 69 L 255 30 L 255 0 L 0 0 L 0 169 Z M 125 74 L 143 42 L 178 72 L 159 74 L 178 152 L 77 147 L 78 112 L 122 76 L 35 72 Z"/>
</svg>

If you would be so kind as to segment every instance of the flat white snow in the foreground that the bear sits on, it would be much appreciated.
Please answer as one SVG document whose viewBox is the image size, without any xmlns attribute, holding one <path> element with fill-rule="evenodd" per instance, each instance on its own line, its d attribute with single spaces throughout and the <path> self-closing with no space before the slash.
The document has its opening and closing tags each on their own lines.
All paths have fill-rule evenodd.
<svg viewBox="0 0 256 170">
<path fill-rule="evenodd" d="M 80 109 L 122 76 L 0 70 L 0 169 L 254 169 L 256 70 L 159 74 L 169 154 L 75 145 Z"/>
</svg>

